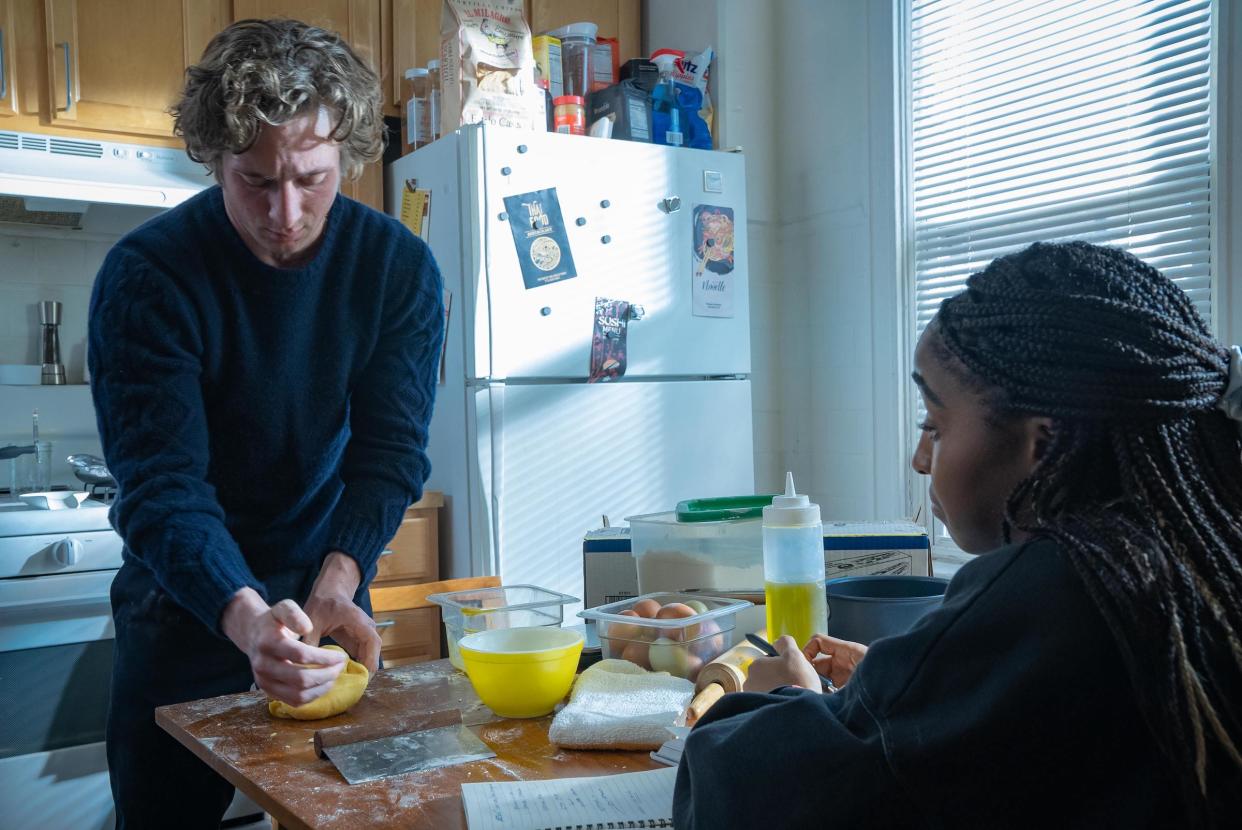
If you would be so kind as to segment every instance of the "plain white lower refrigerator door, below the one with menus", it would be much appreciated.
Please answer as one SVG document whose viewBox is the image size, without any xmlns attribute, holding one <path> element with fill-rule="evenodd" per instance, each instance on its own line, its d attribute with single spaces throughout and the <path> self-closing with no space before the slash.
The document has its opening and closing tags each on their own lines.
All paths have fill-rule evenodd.
<svg viewBox="0 0 1242 830">
<path fill-rule="evenodd" d="M 749 380 L 496 386 L 491 419 L 504 583 L 581 598 L 582 536 L 604 516 L 754 492 Z"/>
</svg>

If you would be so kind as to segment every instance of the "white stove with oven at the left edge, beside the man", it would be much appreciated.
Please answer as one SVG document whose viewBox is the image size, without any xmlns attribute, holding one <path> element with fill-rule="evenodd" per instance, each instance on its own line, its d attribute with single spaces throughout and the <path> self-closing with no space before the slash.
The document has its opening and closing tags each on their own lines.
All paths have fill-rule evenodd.
<svg viewBox="0 0 1242 830">
<path fill-rule="evenodd" d="M 107 497 L 107 496 L 106 496 Z M 37 509 L 0 496 L 0 824 L 111 830 L 103 743 L 109 589 L 120 537 L 101 498 Z M 261 813 L 238 793 L 226 819 Z"/>
</svg>

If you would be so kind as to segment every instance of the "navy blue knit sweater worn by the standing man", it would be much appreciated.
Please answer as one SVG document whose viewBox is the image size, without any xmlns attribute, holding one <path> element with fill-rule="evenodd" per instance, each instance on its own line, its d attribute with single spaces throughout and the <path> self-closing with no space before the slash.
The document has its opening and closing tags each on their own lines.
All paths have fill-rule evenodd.
<svg viewBox="0 0 1242 830">
<path fill-rule="evenodd" d="M 302 268 L 256 258 L 219 188 L 125 236 L 89 362 L 127 560 L 217 632 L 238 589 L 330 550 L 368 583 L 427 477 L 442 332 L 427 246 L 345 196 Z"/>
</svg>

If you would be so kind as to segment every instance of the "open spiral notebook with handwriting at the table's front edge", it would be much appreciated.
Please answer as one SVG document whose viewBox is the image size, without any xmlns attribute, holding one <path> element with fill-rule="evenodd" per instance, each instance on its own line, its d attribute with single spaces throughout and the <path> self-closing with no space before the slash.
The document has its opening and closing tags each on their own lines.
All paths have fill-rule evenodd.
<svg viewBox="0 0 1242 830">
<path fill-rule="evenodd" d="M 595 830 L 673 826 L 677 769 L 462 784 L 469 830 Z"/>
</svg>

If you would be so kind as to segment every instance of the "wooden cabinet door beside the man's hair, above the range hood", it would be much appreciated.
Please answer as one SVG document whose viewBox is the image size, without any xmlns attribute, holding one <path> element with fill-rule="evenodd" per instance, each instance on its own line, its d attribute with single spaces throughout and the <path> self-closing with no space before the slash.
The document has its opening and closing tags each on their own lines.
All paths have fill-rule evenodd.
<svg viewBox="0 0 1242 830">
<path fill-rule="evenodd" d="M 50 123 L 171 135 L 185 67 L 226 21 L 201 0 L 43 0 Z"/>
</svg>

